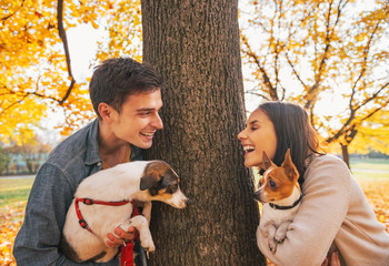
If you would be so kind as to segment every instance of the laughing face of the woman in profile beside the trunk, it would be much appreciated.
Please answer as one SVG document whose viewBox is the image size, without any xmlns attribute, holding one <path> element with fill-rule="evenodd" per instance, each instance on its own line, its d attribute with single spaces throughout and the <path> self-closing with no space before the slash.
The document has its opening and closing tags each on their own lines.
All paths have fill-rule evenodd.
<svg viewBox="0 0 389 266">
<path fill-rule="evenodd" d="M 245 165 L 259 166 L 265 151 L 269 158 L 273 158 L 277 151 L 277 135 L 273 123 L 268 115 L 257 109 L 247 122 L 246 129 L 238 134 L 245 150 Z"/>
</svg>

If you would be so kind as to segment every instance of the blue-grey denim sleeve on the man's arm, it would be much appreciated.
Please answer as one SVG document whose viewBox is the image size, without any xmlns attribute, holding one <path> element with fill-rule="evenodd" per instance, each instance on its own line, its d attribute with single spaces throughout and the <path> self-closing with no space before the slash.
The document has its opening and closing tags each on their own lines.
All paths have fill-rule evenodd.
<svg viewBox="0 0 389 266">
<path fill-rule="evenodd" d="M 118 258 L 107 264 L 77 264 L 60 253 L 66 214 L 77 185 L 54 165 L 42 165 L 30 192 L 23 225 L 14 241 L 13 256 L 18 266 L 119 265 Z"/>
</svg>

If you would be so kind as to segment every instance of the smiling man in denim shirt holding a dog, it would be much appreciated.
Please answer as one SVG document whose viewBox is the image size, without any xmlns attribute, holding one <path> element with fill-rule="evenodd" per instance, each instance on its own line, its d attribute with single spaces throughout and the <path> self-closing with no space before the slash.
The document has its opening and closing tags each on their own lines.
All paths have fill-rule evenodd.
<svg viewBox="0 0 389 266">
<path fill-rule="evenodd" d="M 142 160 L 142 149 L 149 149 L 156 131 L 163 127 L 158 114 L 161 80 L 148 64 L 129 58 L 106 60 L 97 66 L 89 93 L 98 119 L 61 142 L 37 174 L 13 247 L 19 266 L 80 265 L 59 250 L 78 184 L 101 168 Z M 118 227 L 114 233 L 132 239 L 133 231 Z M 113 234 L 108 238 L 109 246 L 122 244 Z M 119 265 L 119 259 L 104 265 Z"/>
</svg>

